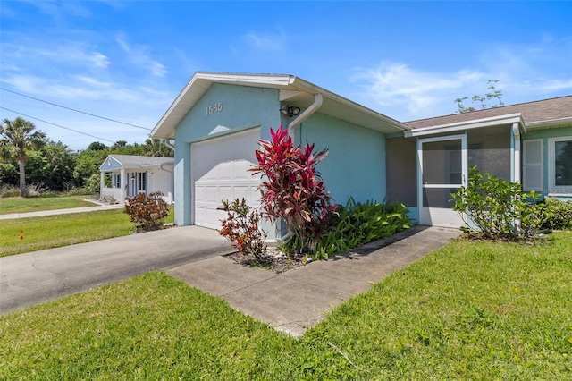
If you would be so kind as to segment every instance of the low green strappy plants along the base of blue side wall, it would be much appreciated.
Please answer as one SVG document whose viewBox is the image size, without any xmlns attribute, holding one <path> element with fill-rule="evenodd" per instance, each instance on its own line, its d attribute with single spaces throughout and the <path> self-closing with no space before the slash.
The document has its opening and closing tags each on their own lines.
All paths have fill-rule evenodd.
<svg viewBox="0 0 572 381">
<path fill-rule="evenodd" d="M 324 237 L 317 242 L 314 258 L 329 258 L 368 242 L 381 240 L 410 228 L 408 208 L 401 203 L 365 203 L 349 198 L 346 207 L 338 206 Z M 283 250 L 300 249 L 296 239 L 287 241 Z"/>
</svg>

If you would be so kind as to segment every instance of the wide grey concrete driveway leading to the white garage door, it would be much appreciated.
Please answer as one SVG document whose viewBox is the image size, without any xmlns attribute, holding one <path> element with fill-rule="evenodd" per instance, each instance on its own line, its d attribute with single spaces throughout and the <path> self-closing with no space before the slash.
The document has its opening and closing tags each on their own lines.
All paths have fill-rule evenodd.
<svg viewBox="0 0 572 381">
<path fill-rule="evenodd" d="M 0 258 L 0 313 L 232 251 L 214 230 L 180 226 Z"/>
</svg>

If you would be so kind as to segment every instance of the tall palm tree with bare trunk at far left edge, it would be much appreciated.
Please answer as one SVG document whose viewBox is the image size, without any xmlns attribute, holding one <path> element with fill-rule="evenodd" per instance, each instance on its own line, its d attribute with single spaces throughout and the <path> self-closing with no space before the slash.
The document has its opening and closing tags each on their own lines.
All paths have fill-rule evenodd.
<svg viewBox="0 0 572 381">
<path fill-rule="evenodd" d="M 0 126 L 0 152 L 16 157 L 20 169 L 20 195 L 26 197 L 26 173 L 24 165 L 28 161 L 26 149 L 39 148 L 46 143 L 46 133 L 34 131 L 36 126 L 18 116 L 13 121 L 4 119 Z M 34 132 L 32 132 L 34 131 Z"/>
</svg>

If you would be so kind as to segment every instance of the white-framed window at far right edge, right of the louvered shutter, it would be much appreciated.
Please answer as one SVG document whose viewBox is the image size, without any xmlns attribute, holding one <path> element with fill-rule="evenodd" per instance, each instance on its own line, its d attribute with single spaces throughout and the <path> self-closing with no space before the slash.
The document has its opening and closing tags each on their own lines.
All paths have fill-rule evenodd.
<svg viewBox="0 0 572 381">
<path fill-rule="evenodd" d="M 551 138 L 549 146 L 549 192 L 572 193 L 572 137 Z"/>
</svg>

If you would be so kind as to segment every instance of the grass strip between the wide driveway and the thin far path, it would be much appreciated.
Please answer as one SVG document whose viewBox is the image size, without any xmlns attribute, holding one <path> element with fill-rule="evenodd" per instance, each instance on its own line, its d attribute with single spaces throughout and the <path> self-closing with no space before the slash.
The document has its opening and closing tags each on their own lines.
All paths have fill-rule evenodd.
<svg viewBox="0 0 572 381">
<path fill-rule="evenodd" d="M 164 222 L 173 220 L 171 207 Z M 133 230 L 134 224 L 123 209 L 3 220 L 0 224 L 0 257 L 121 237 Z"/>
</svg>

